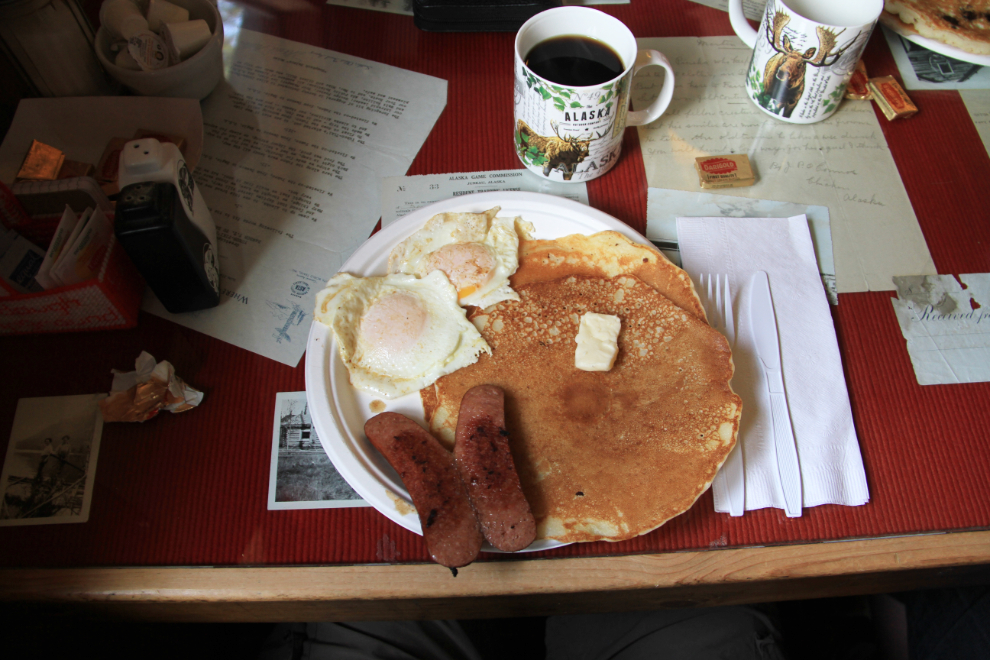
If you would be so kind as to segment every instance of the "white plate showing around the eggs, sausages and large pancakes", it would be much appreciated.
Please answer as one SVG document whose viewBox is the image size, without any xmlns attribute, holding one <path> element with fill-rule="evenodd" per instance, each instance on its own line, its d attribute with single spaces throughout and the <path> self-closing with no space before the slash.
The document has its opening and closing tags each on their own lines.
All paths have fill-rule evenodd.
<svg viewBox="0 0 990 660">
<path fill-rule="evenodd" d="M 493 206 L 502 208 L 500 216 L 520 215 L 533 223 L 535 238 L 613 230 L 637 243 L 649 244 L 625 223 L 569 199 L 528 192 L 477 193 L 413 211 L 368 239 L 340 270 L 363 277 L 385 275 L 392 248 L 420 229 L 432 216 L 445 212 L 481 213 Z M 347 368 L 337 353 L 333 333 L 319 322 L 313 323 L 306 348 L 306 398 L 323 449 L 340 475 L 368 504 L 390 520 L 421 535 L 419 517 L 412 509 L 408 491 L 398 474 L 364 435 L 364 423 L 375 415 L 371 412 L 371 402 L 378 397 L 351 387 Z M 423 404 L 418 392 L 384 403 L 387 410 L 408 415 L 425 426 Z M 562 545 L 567 544 L 538 540 L 523 552 L 548 550 Z M 487 544 L 482 549 L 495 551 Z"/>
</svg>

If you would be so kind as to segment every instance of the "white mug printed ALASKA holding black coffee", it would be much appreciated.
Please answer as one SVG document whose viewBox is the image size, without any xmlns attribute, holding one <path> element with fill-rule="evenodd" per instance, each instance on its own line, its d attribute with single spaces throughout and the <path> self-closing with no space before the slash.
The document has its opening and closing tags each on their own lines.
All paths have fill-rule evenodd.
<svg viewBox="0 0 990 660">
<path fill-rule="evenodd" d="M 555 37 L 586 37 L 607 45 L 622 71 L 606 82 L 567 86 L 542 78 L 527 65 L 535 46 Z M 659 97 L 645 110 L 629 111 L 632 78 L 649 65 L 666 70 Z M 648 124 L 674 95 L 674 71 L 655 50 L 639 51 L 621 21 L 587 7 L 558 7 L 526 21 L 515 47 L 516 153 L 532 172 L 552 181 L 578 183 L 608 172 L 622 151 L 626 126 Z"/>
</svg>

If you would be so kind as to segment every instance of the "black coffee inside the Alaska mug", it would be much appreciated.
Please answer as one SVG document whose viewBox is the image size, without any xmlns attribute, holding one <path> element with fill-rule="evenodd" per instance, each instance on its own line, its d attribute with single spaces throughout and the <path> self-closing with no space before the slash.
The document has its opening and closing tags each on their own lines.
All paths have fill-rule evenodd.
<svg viewBox="0 0 990 660">
<path fill-rule="evenodd" d="M 606 44 L 576 35 L 541 41 L 526 54 L 525 62 L 541 78 L 567 87 L 601 85 L 625 69 Z"/>
</svg>

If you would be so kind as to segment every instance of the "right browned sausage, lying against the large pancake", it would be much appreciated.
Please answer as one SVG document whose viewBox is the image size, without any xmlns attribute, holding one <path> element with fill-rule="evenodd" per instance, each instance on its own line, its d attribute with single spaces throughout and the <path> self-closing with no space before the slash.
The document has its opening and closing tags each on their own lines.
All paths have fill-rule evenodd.
<svg viewBox="0 0 990 660">
<path fill-rule="evenodd" d="M 509 450 L 501 388 L 478 385 L 461 399 L 454 457 L 488 542 L 507 552 L 532 543 L 536 521 Z"/>
</svg>

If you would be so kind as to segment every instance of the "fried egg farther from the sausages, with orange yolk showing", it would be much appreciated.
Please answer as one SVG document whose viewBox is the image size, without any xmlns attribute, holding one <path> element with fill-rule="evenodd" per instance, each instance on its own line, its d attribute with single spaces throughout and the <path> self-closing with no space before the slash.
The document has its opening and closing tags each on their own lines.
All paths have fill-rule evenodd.
<svg viewBox="0 0 990 660">
<path fill-rule="evenodd" d="M 509 276 L 519 267 L 519 236 L 533 226 L 522 218 L 498 218 L 499 207 L 484 213 L 440 213 L 389 254 L 390 273 L 424 277 L 436 270 L 457 288 L 461 305 L 489 307 L 519 300 Z"/>
</svg>

